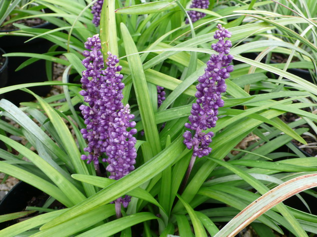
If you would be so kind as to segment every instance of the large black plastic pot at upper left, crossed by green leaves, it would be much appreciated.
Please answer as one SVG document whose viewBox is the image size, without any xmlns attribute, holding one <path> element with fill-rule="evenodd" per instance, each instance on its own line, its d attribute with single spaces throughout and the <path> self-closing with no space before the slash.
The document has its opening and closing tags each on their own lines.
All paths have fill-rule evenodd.
<svg viewBox="0 0 317 237">
<path fill-rule="evenodd" d="M 55 25 L 48 22 L 38 26 L 34 26 L 33 28 L 53 29 L 55 28 Z M 49 47 L 52 45 L 51 42 L 42 38 L 35 38 L 34 40 L 24 43 L 24 41 L 29 38 L 25 36 L 9 35 L 10 32 L 13 31 L 15 30 L 0 30 L 0 32 L 8 33 L 8 35 L 0 37 L 0 45 L 6 53 L 24 52 L 42 54 L 47 52 Z M 8 58 L 9 67 L 7 69 L 7 86 L 30 82 L 42 82 L 47 80 L 44 60 L 38 60 L 19 71 L 15 71 L 15 69 L 28 58 L 29 57 Z M 31 90 L 40 96 L 46 96 L 46 94 L 50 90 L 50 86 L 32 87 Z M 16 105 L 18 105 L 20 102 L 30 101 L 34 99 L 33 96 L 22 91 L 8 92 L 4 95 L 4 97 L 5 99 L 13 102 Z"/>
</svg>

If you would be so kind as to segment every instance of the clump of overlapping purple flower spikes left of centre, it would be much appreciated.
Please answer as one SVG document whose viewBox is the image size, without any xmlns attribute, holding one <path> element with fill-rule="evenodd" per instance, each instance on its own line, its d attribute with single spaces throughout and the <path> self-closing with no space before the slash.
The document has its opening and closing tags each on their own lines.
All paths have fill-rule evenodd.
<svg viewBox="0 0 317 237">
<path fill-rule="evenodd" d="M 108 52 L 106 68 L 103 69 L 103 57 L 100 51 L 101 43 L 99 35 L 89 37 L 85 42 L 83 51 L 86 56 L 82 64 L 86 70 L 82 72 L 82 89 L 79 93 L 84 97 L 88 106 L 81 105 L 79 109 L 86 124 L 81 129 L 82 137 L 88 141 L 84 151 L 89 155 L 81 155 L 82 160 L 87 163 L 93 162 L 98 168 L 98 158 L 105 153 L 107 159 L 102 159 L 109 165 L 106 170 L 110 172 L 110 179 L 118 180 L 134 170 L 136 150 L 136 139 L 132 137 L 136 133 L 134 118 L 130 114 L 129 105 L 123 106 L 121 82 L 123 75 L 118 72 L 121 66 L 115 66 L 119 60 L 115 55 Z M 89 79 L 90 78 L 90 79 Z M 128 128 L 132 128 L 127 131 Z M 118 198 L 114 201 L 117 217 L 120 217 L 121 204 L 127 207 L 129 196 Z"/>
</svg>

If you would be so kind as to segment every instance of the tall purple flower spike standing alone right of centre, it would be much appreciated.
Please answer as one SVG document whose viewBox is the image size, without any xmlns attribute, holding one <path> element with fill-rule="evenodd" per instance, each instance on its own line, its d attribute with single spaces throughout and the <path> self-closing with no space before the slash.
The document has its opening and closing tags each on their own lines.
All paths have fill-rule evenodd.
<svg viewBox="0 0 317 237">
<path fill-rule="evenodd" d="M 206 134 L 202 131 L 215 126 L 218 108 L 224 105 L 221 99 L 221 93 L 226 90 L 224 80 L 230 76 L 229 72 L 233 71 L 233 66 L 229 65 L 233 56 L 228 54 L 232 44 L 230 40 L 224 41 L 224 38 L 231 37 L 231 33 L 221 24 L 218 24 L 217 28 L 213 37 L 218 39 L 218 42 L 213 43 L 211 47 L 219 55 L 210 56 L 204 74 L 198 78 L 199 83 L 195 93 L 197 100 L 191 107 L 191 115 L 188 117 L 190 123 L 185 124 L 185 127 L 194 130 L 195 134 L 193 137 L 190 131 L 185 131 L 183 134 L 184 144 L 188 149 L 193 148 L 193 156 L 198 157 L 206 156 L 211 152 L 208 145 L 213 133 Z"/>
</svg>

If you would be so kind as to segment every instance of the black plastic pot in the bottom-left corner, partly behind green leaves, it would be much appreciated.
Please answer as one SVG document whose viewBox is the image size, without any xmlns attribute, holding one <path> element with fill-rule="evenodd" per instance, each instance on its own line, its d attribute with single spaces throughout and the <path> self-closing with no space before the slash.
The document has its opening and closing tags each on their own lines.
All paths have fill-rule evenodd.
<svg viewBox="0 0 317 237">
<path fill-rule="evenodd" d="M 28 202 L 43 192 L 24 182 L 17 183 L 0 202 L 0 215 L 21 212 Z M 15 224 L 16 221 L 0 223 L 0 230 Z"/>
</svg>

